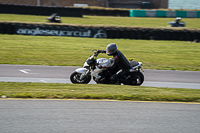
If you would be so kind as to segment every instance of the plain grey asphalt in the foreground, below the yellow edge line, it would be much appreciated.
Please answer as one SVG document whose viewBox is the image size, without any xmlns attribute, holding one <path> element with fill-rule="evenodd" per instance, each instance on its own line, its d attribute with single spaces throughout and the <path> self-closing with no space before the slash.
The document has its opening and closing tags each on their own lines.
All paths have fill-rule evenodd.
<svg viewBox="0 0 200 133">
<path fill-rule="evenodd" d="M 1 133 L 200 133 L 200 104 L 0 100 Z"/>
</svg>

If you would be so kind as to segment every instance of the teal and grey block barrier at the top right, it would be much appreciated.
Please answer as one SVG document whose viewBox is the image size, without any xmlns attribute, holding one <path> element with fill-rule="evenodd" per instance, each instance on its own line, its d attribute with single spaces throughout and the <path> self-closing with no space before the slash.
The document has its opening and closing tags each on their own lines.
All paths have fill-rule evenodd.
<svg viewBox="0 0 200 133">
<path fill-rule="evenodd" d="M 200 11 L 130 10 L 130 17 L 200 18 Z"/>
</svg>

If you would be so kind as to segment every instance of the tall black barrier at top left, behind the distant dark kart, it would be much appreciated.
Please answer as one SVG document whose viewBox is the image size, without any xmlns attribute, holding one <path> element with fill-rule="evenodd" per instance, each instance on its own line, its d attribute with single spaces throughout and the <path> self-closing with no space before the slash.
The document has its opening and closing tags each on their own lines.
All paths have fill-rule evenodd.
<svg viewBox="0 0 200 133">
<path fill-rule="evenodd" d="M 0 4 L 0 13 L 45 15 L 45 16 L 49 16 L 52 13 L 57 13 L 58 15 L 65 17 L 82 17 L 83 9 L 70 8 L 70 7 L 46 7 L 46 6 Z"/>
</svg>

